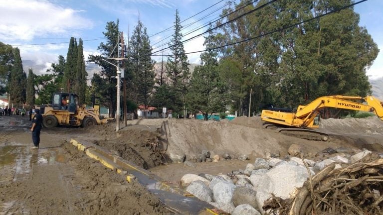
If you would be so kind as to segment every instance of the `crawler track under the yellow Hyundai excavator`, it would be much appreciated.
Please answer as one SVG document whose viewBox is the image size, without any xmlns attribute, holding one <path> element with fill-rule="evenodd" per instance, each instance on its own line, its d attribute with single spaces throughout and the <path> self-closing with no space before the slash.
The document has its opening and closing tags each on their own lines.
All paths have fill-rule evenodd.
<svg viewBox="0 0 383 215">
<path fill-rule="evenodd" d="M 276 130 L 278 133 L 307 140 L 328 141 L 329 135 L 307 128 L 285 128 L 275 124 L 264 124 L 263 128 Z"/>
</svg>

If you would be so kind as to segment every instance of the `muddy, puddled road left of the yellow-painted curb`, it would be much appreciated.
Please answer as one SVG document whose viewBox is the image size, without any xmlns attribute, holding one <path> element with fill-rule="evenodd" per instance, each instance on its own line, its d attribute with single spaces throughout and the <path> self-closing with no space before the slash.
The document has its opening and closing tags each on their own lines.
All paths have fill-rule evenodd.
<svg viewBox="0 0 383 215">
<path fill-rule="evenodd" d="M 0 215 L 173 214 L 140 184 L 71 147 L 86 130 L 43 128 L 35 150 L 29 129 L 26 117 L 0 117 Z"/>
</svg>

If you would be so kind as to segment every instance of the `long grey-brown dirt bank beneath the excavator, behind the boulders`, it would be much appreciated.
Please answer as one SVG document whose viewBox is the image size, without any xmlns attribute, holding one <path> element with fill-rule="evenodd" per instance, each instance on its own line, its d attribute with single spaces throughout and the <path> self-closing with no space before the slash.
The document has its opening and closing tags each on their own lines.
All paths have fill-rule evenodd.
<svg viewBox="0 0 383 215">
<path fill-rule="evenodd" d="M 188 159 L 197 157 L 202 150 L 218 155 L 227 152 L 232 158 L 242 154 L 250 158 L 264 157 L 267 152 L 276 151 L 285 156 L 294 143 L 306 153 L 316 153 L 327 147 L 383 150 L 382 137 L 376 135 L 383 133 L 383 122 L 377 117 L 323 120 L 320 129 L 334 134 L 329 142 L 308 141 L 264 129 L 258 116 L 241 116 L 231 121 L 138 119 L 128 123 L 126 127 L 121 126 L 117 135 L 115 123 L 89 128 L 88 133 L 100 135 L 94 143 L 145 169 L 162 164 L 165 156 L 185 154 Z M 347 133 L 353 135 L 345 135 Z"/>
</svg>

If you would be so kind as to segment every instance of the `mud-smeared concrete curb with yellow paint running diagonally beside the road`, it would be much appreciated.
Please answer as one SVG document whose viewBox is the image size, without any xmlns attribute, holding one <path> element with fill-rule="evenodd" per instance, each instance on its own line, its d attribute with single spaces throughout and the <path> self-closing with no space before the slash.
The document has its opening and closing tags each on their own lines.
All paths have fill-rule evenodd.
<svg viewBox="0 0 383 215">
<path fill-rule="evenodd" d="M 193 195 L 182 189 L 174 188 L 165 183 L 161 178 L 152 174 L 148 170 L 106 151 L 86 141 L 81 143 L 71 139 L 70 143 L 79 151 L 83 151 L 90 158 L 98 160 L 105 167 L 116 171 L 118 174 L 126 176 L 128 183 L 137 180 L 146 187 L 149 192 L 157 195 L 160 200 L 171 209 L 171 211 L 185 215 L 218 215 L 214 213 L 214 207 L 210 204 L 200 201 Z"/>
</svg>

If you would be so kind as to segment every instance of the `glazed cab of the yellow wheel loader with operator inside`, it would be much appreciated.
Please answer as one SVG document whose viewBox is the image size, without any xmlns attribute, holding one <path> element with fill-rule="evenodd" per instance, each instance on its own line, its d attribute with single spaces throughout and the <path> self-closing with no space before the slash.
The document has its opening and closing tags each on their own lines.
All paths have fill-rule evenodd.
<svg viewBox="0 0 383 215">
<path fill-rule="evenodd" d="M 55 93 L 52 98 L 54 110 L 63 110 L 75 113 L 78 104 L 78 96 L 71 93 Z"/>
</svg>

